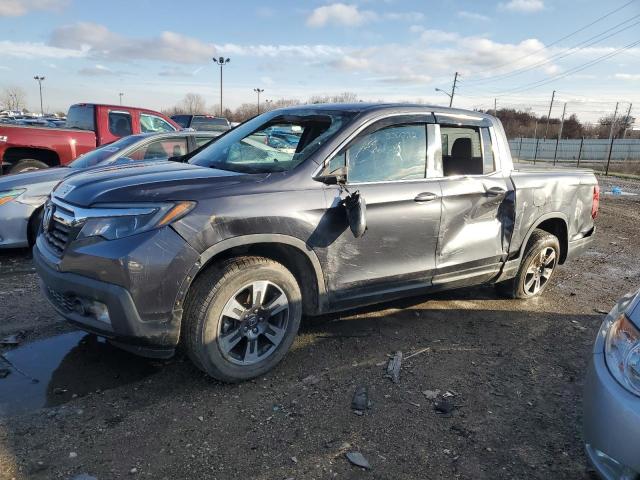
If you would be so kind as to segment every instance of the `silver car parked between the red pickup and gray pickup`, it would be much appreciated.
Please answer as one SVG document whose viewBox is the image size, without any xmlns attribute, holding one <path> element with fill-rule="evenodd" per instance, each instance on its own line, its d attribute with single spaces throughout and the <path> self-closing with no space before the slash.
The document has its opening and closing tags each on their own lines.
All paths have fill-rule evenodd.
<svg viewBox="0 0 640 480">
<path fill-rule="evenodd" d="M 219 135 L 196 131 L 130 135 L 82 155 L 67 167 L 0 177 L 0 249 L 33 245 L 44 202 L 53 187 L 69 175 L 118 163 L 179 157 Z"/>
</svg>

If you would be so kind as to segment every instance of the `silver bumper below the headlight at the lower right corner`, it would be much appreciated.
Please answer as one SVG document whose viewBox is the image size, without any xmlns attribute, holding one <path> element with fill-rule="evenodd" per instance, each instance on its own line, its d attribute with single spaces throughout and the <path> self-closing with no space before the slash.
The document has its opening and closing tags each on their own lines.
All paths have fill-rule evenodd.
<svg viewBox="0 0 640 480">
<path fill-rule="evenodd" d="M 587 456 L 606 480 L 640 479 L 640 397 L 624 389 L 593 355 L 584 389 Z"/>
</svg>

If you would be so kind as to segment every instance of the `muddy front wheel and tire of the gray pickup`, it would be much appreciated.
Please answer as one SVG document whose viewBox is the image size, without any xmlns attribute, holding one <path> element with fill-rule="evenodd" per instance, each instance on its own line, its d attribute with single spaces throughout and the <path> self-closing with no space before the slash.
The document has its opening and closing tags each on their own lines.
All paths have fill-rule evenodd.
<svg viewBox="0 0 640 480">
<path fill-rule="evenodd" d="M 263 257 L 233 258 L 194 281 L 185 301 L 184 347 L 207 374 L 241 382 L 282 360 L 301 318 L 300 287 L 289 270 Z"/>
</svg>

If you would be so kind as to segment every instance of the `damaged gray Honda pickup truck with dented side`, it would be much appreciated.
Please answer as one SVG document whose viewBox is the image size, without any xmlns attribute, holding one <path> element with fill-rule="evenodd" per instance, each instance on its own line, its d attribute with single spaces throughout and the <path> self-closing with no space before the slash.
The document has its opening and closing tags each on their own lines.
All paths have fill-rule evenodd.
<svg viewBox="0 0 640 480">
<path fill-rule="evenodd" d="M 514 169 L 488 115 L 301 106 L 188 162 L 65 180 L 34 261 L 70 322 L 141 355 L 182 343 L 233 382 L 273 368 L 303 315 L 480 284 L 539 295 L 592 241 L 598 202 L 590 171 Z"/>
</svg>

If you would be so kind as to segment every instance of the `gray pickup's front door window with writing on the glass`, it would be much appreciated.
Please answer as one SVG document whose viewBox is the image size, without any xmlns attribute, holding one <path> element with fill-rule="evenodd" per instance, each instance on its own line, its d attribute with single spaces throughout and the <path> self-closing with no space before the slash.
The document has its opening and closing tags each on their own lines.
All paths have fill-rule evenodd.
<svg viewBox="0 0 640 480">
<path fill-rule="evenodd" d="M 425 178 L 424 124 L 397 125 L 357 138 L 347 150 L 349 183 Z"/>
</svg>

